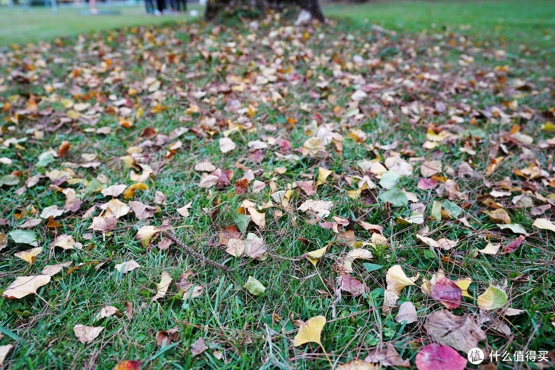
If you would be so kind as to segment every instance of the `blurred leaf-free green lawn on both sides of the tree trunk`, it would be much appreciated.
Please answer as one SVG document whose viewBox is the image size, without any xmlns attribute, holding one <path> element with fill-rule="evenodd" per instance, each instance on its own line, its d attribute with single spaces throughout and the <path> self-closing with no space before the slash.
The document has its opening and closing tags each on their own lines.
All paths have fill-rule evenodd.
<svg viewBox="0 0 555 370">
<path fill-rule="evenodd" d="M 79 33 L 202 19 L 204 4 L 188 2 L 186 11 L 147 13 L 143 0 L 97 0 L 90 14 L 84 0 L 0 0 L 0 46 L 25 44 Z M 164 0 L 162 0 L 164 1 Z M 204 1 L 204 0 L 203 0 Z M 553 50 L 553 0 L 321 0 L 326 17 L 348 17 L 355 27 L 396 32 L 469 34 L 477 40 L 507 40 L 524 47 Z M 156 14 L 155 14 L 156 13 Z"/>
</svg>

